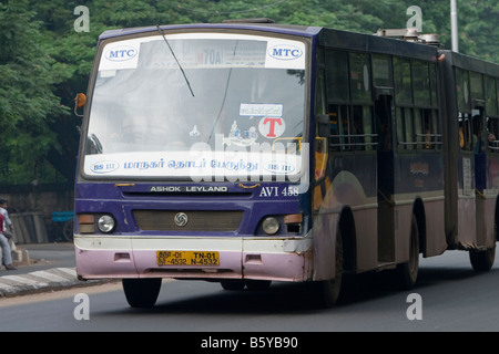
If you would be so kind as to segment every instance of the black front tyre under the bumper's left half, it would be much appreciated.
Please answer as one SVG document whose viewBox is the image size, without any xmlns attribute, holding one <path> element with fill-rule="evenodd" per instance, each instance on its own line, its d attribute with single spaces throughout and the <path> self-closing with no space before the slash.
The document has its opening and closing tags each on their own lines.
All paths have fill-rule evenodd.
<svg viewBox="0 0 499 354">
<path fill-rule="evenodd" d="M 123 291 L 132 308 L 152 308 L 161 290 L 161 278 L 123 279 Z"/>
</svg>

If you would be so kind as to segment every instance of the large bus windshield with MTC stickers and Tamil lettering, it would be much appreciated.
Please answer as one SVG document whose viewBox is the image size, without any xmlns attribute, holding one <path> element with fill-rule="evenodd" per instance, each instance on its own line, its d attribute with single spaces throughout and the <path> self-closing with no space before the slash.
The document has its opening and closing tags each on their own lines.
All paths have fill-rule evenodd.
<svg viewBox="0 0 499 354">
<path fill-rule="evenodd" d="M 85 175 L 261 180 L 306 173 L 305 51 L 301 41 L 230 33 L 105 43 Z"/>
</svg>

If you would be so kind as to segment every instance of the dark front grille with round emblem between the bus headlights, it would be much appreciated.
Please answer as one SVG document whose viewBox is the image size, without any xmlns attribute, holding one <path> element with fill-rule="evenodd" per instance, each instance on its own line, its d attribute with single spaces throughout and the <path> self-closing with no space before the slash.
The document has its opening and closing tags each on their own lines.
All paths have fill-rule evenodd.
<svg viewBox="0 0 499 354">
<path fill-rule="evenodd" d="M 141 230 L 236 231 L 240 228 L 243 211 L 134 210 L 133 216 Z"/>
</svg>

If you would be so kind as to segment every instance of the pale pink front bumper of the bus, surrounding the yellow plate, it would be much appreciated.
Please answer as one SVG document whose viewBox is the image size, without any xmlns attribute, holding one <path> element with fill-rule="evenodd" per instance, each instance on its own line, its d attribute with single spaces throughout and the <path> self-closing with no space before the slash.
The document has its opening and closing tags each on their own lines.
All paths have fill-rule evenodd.
<svg viewBox="0 0 499 354">
<path fill-rule="evenodd" d="M 310 238 L 74 237 L 80 279 L 172 278 L 306 281 Z M 217 252 L 218 266 L 160 266 L 156 251 Z"/>
</svg>

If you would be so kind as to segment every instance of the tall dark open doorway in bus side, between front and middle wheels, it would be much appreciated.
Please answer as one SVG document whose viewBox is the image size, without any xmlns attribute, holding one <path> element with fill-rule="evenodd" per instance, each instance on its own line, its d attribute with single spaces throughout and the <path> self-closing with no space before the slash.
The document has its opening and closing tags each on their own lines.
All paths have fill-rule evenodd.
<svg viewBox="0 0 499 354">
<path fill-rule="evenodd" d="M 395 261 L 394 208 L 394 95 L 391 87 L 375 87 L 375 116 L 378 134 L 378 263 Z"/>
</svg>

